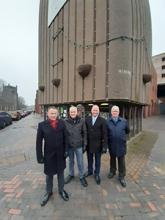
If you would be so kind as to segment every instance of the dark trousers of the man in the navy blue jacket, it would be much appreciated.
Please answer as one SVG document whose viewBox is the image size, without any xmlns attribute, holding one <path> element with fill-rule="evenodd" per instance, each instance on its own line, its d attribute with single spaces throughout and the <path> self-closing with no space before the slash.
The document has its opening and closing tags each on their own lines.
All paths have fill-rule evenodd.
<svg viewBox="0 0 165 220">
<path fill-rule="evenodd" d="M 110 172 L 116 173 L 116 159 L 118 161 L 119 178 L 124 178 L 126 175 L 125 156 L 116 157 L 110 154 Z"/>
</svg>

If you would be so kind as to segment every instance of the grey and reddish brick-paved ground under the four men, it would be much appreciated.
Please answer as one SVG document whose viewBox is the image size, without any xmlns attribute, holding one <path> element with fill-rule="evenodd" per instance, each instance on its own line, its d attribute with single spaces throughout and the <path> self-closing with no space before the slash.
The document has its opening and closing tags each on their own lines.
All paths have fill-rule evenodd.
<svg viewBox="0 0 165 220">
<path fill-rule="evenodd" d="M 102 157 L 101 185 L 88 177 L 88 187 L 78 175 L 65 189 L 64 202 L 57 192 L 45 207 L 43 166 L 36 163 L 35 136 L 42 118 L 30 115 L 0 131 L 0 220 L 164 220 L 165 219 L 165 117 L 145 119 L 144 131 L 129 141 L 127 187 L 117 176 L 107 178 L 108 154 Z M 86 155 L 84 155 L 86 166 Z M 68 168 L 66 169 L 66 175 Z"/>
</svg>

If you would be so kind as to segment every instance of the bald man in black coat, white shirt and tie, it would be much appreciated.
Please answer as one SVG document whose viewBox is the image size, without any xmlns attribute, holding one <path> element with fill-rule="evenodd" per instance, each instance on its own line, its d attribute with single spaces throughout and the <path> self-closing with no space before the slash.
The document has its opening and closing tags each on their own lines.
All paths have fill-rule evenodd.
<svg viewBox="0 0 165 220">
<path fill-rule="evenodd" d="M 101 182 L 101 154 L 106 153 L 107 151 L 106 120 L 100 117 L 99 113 L 99 107 L 97 105 L 93 105 L 91 109 L 92 115 L 86 118 L 88 159 L 88 172 L 86 176 L 93 174 L 93 157 L 95 157 L 94 177 L 98 185 Z"/>
</svg>

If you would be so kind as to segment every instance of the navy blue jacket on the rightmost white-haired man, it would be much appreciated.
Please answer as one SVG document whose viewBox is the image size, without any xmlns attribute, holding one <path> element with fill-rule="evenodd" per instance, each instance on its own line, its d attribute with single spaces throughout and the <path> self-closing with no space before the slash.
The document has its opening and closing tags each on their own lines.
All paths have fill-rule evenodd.
<svg viewBox="0 0 165 220">
<path fill-rule="evenodd" d="M 121 157 L 126 154 L 127 138 L 126 134 L 130 129 L 127 120 L 119 117 L 115 122 L 112 118 L 107 120 L 108 147 L 110 154 Z"/>
</svg>

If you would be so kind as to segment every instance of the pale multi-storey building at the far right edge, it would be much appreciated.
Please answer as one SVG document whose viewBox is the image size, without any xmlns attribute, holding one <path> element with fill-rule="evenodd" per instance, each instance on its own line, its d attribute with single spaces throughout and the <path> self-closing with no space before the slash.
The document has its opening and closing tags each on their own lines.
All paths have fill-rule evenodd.
<svg viewBox="0 0 165 220">
<path fill-rule="evenodd" d="M 159 112 L 165 114 L 165 53 L 152 58 L 157 72 L 157 96 L 159 99 Z"/>
</svg>

